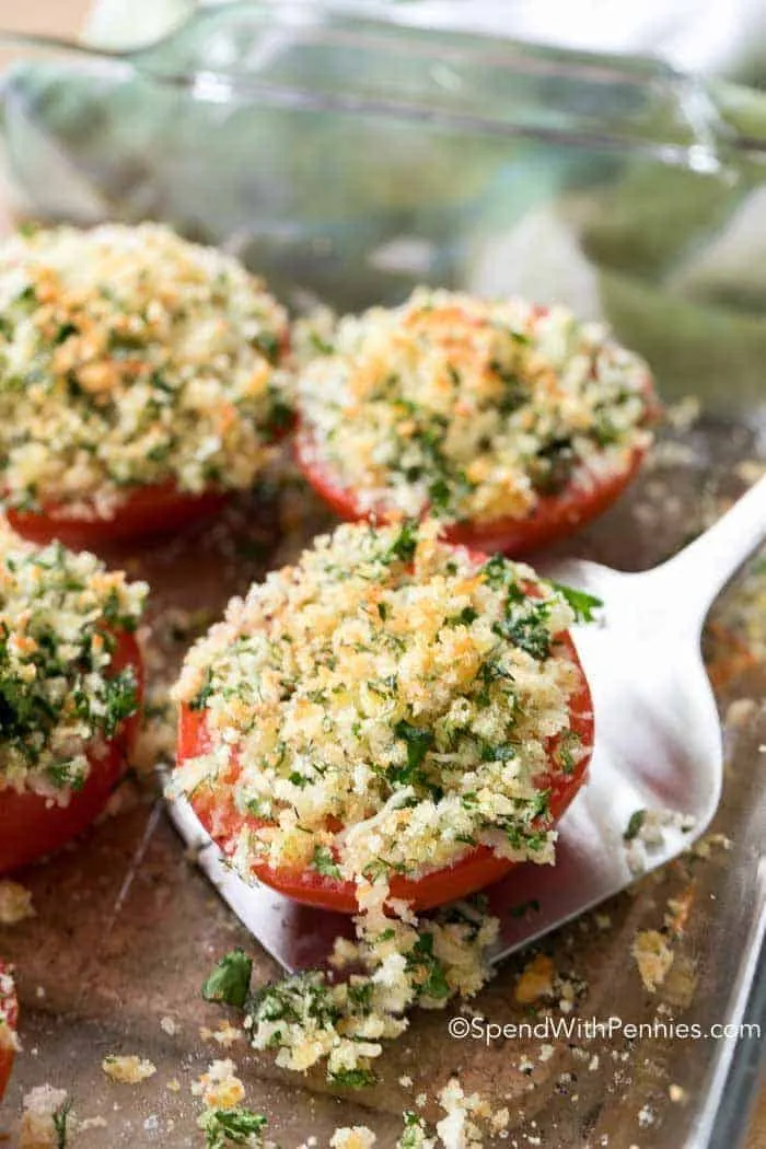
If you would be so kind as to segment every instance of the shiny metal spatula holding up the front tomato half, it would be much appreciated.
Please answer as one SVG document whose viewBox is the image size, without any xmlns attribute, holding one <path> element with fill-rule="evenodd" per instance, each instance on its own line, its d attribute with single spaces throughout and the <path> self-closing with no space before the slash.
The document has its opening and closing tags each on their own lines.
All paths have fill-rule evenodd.
<svg viewBox="0 0 766 1149">
<path fill-rule="evenodd" d="M 664 812 L 645 870 L 675 857 L 709 825 L 721 792 L 722 747 L 699 637 L 715 595 L 765 539 L 766 478 L 653 570 L 624 574 L 580 561 L 541 566 L 604 603 L 599 623 L 574 631 L 594 696 L 596 746 L 589 781 L 560 824 L 556 865 L 519 866 L 487 892 L 502 923 L 494 959 L 634 880 L 625 833 L 636 811 Z M 286 970 L 322 965 L 333 940 L 349 932 L 341 915 L 246 885 L 185 800 L 171 803 L 171 816 L 220 896 Z M 539 910 L 519 915 L 531 902 Z"/>
</svg>

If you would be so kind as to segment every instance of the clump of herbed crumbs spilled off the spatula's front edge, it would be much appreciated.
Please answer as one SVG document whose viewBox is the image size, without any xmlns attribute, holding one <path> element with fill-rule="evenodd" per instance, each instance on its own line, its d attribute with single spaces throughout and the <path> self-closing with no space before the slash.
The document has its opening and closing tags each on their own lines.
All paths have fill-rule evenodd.
<svg viewBox="0 0 766 1149">
<path fill-rule="evenodd" d="M 362 890 L 356 940 L 335 942 L 331 965 L 256 989 L 245 1005 L 255 1049 L 276 1050 L 277 1064 L 305 1072 L 323 1064 L 333 1085 L 374 1081 L 386 1041 L 405 1032 L 416 1005 L 444 1009 L 474 996 L 492 976 L 487 950 L 500 923 L 485 900 L 454 902 L 418 919 L 386 885 Z"/>
</svg>

